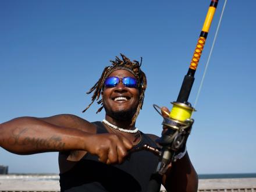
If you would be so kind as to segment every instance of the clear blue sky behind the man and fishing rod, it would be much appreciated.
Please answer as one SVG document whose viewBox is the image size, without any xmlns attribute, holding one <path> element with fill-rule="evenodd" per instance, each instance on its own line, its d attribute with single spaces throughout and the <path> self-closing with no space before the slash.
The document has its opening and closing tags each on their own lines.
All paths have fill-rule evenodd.
<svg viewBox="0 0 256 192">
<path fill-rule="evenodd" d="M 208 34 L 189 101 L 194 104 L 224 1 Z M 86 91 L 120 53 L 143 57 L 148 89 L 136 126 L 160 136 L 179 93 L 210 1 L 0 0 L 0 122 L 18 116 L 96 115 Z M 256 1 L 227 1 L 187 143 L 198 173 L 256 172 Z M 0 148 L 9 172 L 58 173 L 58 154 Z"/>
</svg>

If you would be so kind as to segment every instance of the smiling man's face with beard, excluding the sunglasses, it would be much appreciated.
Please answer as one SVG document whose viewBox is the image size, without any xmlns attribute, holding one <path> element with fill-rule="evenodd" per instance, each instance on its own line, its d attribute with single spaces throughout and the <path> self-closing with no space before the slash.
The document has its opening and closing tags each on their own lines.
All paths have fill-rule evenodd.
<svg viewBox="0 0 256 192">
<path fill-rule="evenodd" d="M 109 74 L 108 77 L 134 77 L 129 71 L 118 69 Z M 117 120 L 131 120 L 137 110 L 140 93 L 137 88 L 125 87 L 119 81 L 116 87 L 105 87 L 102 91 L 103 105 L 106 115 Z"/>
</svg>

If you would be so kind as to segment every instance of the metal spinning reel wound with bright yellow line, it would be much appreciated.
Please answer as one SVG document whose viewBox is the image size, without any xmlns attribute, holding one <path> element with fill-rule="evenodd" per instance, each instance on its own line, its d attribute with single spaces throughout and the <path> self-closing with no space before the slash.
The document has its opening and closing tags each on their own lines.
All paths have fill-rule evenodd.
<svg viewBox="0 0 256 192">
<path fill-rule="evenodd" d="M 179 159 L 179 154 L 186 152 L 186 142 L 194 123 L 190 119 L 191 113 L 195 111 L 189 102 L 183 104 L 180 102 L 172 102 L 173 108 L 170 114 L 162 115 L 161 108 L 153 105 L 155 110 L 163 117 L 162 137 L 157 143 L 162 146 L 160 159 L 157 166 L 157 172 L 163 175 L 171 162 Z"/>
</svg>

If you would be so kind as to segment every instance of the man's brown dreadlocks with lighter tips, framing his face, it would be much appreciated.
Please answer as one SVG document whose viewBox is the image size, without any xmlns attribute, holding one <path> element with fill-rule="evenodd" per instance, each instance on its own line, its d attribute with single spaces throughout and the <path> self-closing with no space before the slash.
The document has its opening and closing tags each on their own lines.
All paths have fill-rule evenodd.
<svg viewBox="0 0 256 192">
<path fill-rule="evenodd" d="M 134 122 L 136 121 L 138 113 L 140 112 L 140 109 L 142 109 L 142 106 L 143 106 L 144 93 L 145 93 L 145 89 L 147 88 L 147 79 L 146 79 L 145 73 L 140 69 L 142 58 L 140 63 L 135 60 L 131 62 L 130 59 L 127 58 L 125 55 L 123 54 L 120 54 L 120 55 L 122 56 L 122 60 L 119 59 L 118 56 L 116 56 L 115 61 L 111 61 L 112 66 L 105 67 L 97 83 L 95 83 L 95 85 L 90 88 L 90 91 L 87 92 L 87 94 L 90 94 L 92 92 L 94 93 L 93 93 L 93 96 L 91 97 L 91 103 L 87 106 L 86 109 L 84 109 L 83 112 L 85 112 L 88 108 L 90 108 L 90 106 L 93 104 L 95 99 L 97 100 L 97 104 L 101 105 L 101 107 L 98 109 L 96 113 L 100 112 L 102 108 L 104 108 L 102 103 L 102 98 L 99 99 L 99 97 L 101 96 L 101 91 L 104 88 L 106 77 L 108 77 L 109 74 L 111 74 L 114 70 L 125 69 L 131 72 L 136 77 L 138 81 L 138 90 L 140 91 L 140 99 L 139 99 L 137 111 L 136 113 L 134 113 L 133 118 L 131 119 L 131 125 L 133 125 Z"/>
</svg>

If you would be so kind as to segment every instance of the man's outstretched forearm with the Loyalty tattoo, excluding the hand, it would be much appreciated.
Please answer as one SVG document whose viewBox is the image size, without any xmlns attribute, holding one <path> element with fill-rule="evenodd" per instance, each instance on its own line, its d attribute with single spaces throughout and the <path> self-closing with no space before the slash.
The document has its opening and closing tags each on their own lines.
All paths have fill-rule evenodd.
<svg viewBox="0 0 256 192">
<path fill-rule="evenodd" d="M 15 154 L 83 150 L 88 133 L 37 118 L 17 118 L 0 125 L 0 146 Z"/>
</svg>

